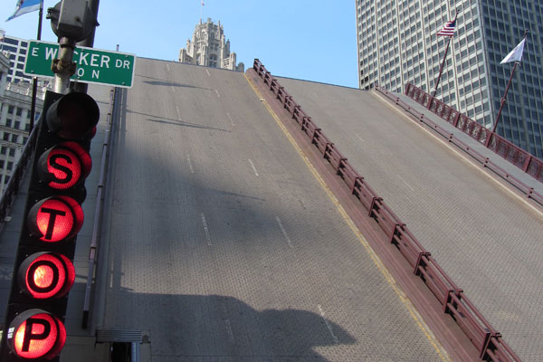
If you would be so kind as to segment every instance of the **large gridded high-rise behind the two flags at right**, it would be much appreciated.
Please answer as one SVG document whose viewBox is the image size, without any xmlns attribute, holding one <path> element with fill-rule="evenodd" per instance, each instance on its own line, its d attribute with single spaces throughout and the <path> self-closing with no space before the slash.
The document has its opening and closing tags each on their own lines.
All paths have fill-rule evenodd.
<svg viewBox="0 0 543 362">
<path fill-rule="evenodd" d="M 437 98 L 491 129 L 513 63 L 500 61 L 528 34 L 497 132 L 543 157 L 543 4 L 538 0 L 357 0 L 358 81 L 431 93 L 445 42 L 437 36 L 458 10 Z"/>
</svg>

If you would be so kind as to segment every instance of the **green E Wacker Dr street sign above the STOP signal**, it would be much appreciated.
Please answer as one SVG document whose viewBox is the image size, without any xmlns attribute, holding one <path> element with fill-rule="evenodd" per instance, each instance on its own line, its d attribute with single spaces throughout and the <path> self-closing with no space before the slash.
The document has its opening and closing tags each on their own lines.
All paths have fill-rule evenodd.
<svg viewBox="0 0 543 362">
<path fill-rule="evenodd" d="M 33 77 L 54 77 L 51 64 L 58 52 L 58 43 L 30 41 L 24 62 L 24 74 Z M 78 46 L 73 51 L 73 62 L 77 64 L 75 74 L 71 77 L 73 81 L 132 87 L 136 65 L 134 54 Z"/>
</svg>

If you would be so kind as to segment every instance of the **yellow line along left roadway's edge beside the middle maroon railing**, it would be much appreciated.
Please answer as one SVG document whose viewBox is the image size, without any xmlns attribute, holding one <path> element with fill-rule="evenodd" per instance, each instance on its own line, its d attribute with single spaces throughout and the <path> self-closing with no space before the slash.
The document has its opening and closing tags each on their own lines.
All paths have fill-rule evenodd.
<svg viewBox="0 0 543 362">
<path fill-rule="evenodd" d="M 256 93 L 258 98 L 263 100 L 261 92 L 254 87 L 254 85 L 252 84 L 252 81 L 247 77 L 247 74 L 245 74 L 245 79 L 249 82 L 249 84 L 251 85 L 252 90 L 254 90 L 254 92 Z M 428 340 L 430 341 L 430 344 L 435 349 L 435 352 L 439 355 L 439 357 L 443 361 L 450 361 L 451 359 L 449 358 L 447 352 L 441 346 L 441 343 L 437 340 L 437 338 L 435 338 L 435 336 L 433 336 L 432 331 L 428 328 L 426 323 L 424 323 L 424 320 L 422 319 L 422 317 L 418 313 L 418 311 L 414 308 L 414 305 L 413 305 L 413 303 L 411 303 L 411 300 L 409 300 L 407 298 L 404 291 L 401 291 L 398 288 L 398 286 L 396 285 L 394 277 L 386 269 L 385 264 L 383 264 L 383 262 L 381 262 L 381 259 L 377 256 L 376 252 L 374 252 L 374 250 L 371 248 L 369 243 L 367 243 L 366 238 L 364 238 L 362 233 L 360 233 L 360 231 L 357 228 L 357 225 L 352 221 L 352 219 L 347 214 L 347 212 L 345 211 L 343 206 L 339 204 L 338 198 L 332 193 L 329 186 L 326 185 L 326 183 L 324 182 L 322 177 L 319 175 L 319 172 L 317 171 L 317 169 L 315 169 L 315 167 L 313 167 L 313 165 L 311 164 L 310 159 L 305 155 L 305 153 L 300 148 L 300 146 L 298 146 L 298 144 L 296 143 L 294 138 L 292 138 L 291 133 L 289 132 L 289 130 L 286 129 L 286 127 L 282 124 L 281 119 L 279 119 L 279 117 L 275 114 L 275 112 L 273 110 L 271 110 L 271 107 L 270 107 L 270 105 L 268 104 L 268 102 L 266 100 L 263 100 L 262 103 L 264 103 L 264 106 L 270 112 L 271 117 L 273 117 L 273 119 L 275 119 L 275 122 L 277 123 L 279 128 L 283 131 L 285 136 L 289 139 L 289 141 L 291 142 L 292 147 L 295 148 L 296 151 L 298 151 L 298 154 L 303 159 L 306 166 L 310 169 L 311 174 L 313 174 L 313 176 L 315 176 L 317 181 L 319 181 L 319 185 L 324 189 L 324 191 L 326 192 L 326 195 L 328 195 L 329 199 L 332 201 L 332 203 L 334 203 L 334 205 L 336 205 L 336 208 L 338 209 L 339 214 L 341 214 L 341 216 L 343 217 L 345 222 L 348 224 L 348 227 L 352 230 L 352 232 L 355 233 L 355 235 L 357 236 L 358 241 L 360 243 L 362 243 L 362 245 L 364 246 L 364 249 L 366 249 L 367 253 L 369 254 L 369 256 L 371 258 L 371 260 L 376 264 L 377 269 L 379 269 L 379 271 L 381 271 L 381 273 L 385 277 L 386 281 L 388 281 L 388 283 L 390 284 L 392 289 L 395 291 L 398 298 L 402 301 L 402 303 L 404 303 L 405 308 L 409 311 L 409 314 L 414 319 L 417 326 L 423 331 L 424 336 L 426 336 L 426 338 L 428 338 Z"/>
</svg>

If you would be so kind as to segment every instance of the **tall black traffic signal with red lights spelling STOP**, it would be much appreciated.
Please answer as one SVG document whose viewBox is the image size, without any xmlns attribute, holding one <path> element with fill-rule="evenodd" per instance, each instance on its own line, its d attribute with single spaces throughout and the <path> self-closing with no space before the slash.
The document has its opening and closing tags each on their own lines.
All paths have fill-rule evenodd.
<svg viewBox="0 0 543 362">
<path fill-rule="evenodd" d="M 45 95 L 0 360 L 58 360 L 100 110 L 86 93 Z"/>
</svg>

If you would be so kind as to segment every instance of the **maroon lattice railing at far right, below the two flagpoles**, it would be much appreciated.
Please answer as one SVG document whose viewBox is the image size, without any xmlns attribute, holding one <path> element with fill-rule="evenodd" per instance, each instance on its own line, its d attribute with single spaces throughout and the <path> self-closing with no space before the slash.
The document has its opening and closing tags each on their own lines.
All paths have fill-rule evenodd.
<svg viewBox="0 0 543 362">
<path fill-rule="evenodd" d="M 430 94 L 417 88 L 412 83 L 408 83 L 405 87 L 405 95 L 416 100 L 425 108 L 431 110 L 433 113 L 452 124 L 456 129 L 461 129 L 462 132 L 470 135 L 472 138 L 481 142 L 481 144 L 487 146 L 488 143 L 487 147 L 492 151 L 507 159 L 510 163 L 522 169 L 522 171 L 528 173 L 529 176 L 543 182 L 542 160 L 530 155 L 529 152 L 519 148 L 491 130 L 486 129 L 473 119 L 469 119 L 458 110 L 454 110 L 452 107 L 443 103 L 443 101 L 433 98 Z M 490 142 L 487 142 L 489 138 Z"/>
</svg>

